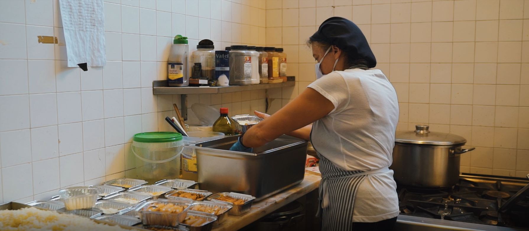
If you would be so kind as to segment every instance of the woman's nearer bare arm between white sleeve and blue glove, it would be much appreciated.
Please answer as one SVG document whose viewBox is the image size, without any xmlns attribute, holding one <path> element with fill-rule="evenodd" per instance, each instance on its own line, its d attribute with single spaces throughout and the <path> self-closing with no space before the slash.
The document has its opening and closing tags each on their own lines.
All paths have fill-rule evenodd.
<svg viewBox="0 0 529 231">
<path fill-rule="evenodd" d="M 306 88 L 278 112 L 252 126 L 244 134 L 243 145 L 260 147 L 282 134 L 292 134 L 308 140 L 312 128 L 307 125 L 326 116 L 333 109 L 334 105 L 329 99 L 312 88 Z"/>
</svg>

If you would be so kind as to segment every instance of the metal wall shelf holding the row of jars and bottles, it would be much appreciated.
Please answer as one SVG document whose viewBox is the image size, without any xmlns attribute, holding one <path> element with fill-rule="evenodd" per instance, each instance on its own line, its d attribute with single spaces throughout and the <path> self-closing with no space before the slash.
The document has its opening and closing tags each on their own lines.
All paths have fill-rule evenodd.
<svg viewBox="0 0 529 231">
<path fill-rule="evenodd" d="M 233 93 L 245 90 L 262 90 L 280 87 L 292 87 L 295 81 L 281 82 L 280 84 L 256 84 L 247 86 L 227 86 L 227 87 L 168 87 L 166 80 L 153 81 L 152 93 L 154 95 L 184 95 L 184 94 L 219 94 Z"/>
</svg>

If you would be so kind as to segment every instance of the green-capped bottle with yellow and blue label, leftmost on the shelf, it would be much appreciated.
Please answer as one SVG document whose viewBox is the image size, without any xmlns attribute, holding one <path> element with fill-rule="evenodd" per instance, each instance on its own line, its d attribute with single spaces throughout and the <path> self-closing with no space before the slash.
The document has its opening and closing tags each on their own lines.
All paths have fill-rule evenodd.
<svg viewBox="0 0 529 231">
<path fill-rule="evenodd" d="M 189 45 L 187 37 L 176 35 L 167 63 L 167 83 L 169 87 L 189 86 L 189 71 L 187 70 L 187 53 Z"/>
</svg>

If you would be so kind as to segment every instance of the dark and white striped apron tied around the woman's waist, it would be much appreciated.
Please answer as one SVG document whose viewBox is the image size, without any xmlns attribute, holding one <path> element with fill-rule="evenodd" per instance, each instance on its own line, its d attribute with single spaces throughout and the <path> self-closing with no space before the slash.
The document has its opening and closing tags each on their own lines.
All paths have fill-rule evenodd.
<svg viewBox="0 0 529 231">
<path fill-rule="evenodd" d="M 320 208 L 322 230 L 350 231 L 353 224 L 354 197 L 360 183 L 369 174 L 389 171 L 388 167 L 372 171 L 345 171 L 318 153 L 320 158 Z"/>
</svg>

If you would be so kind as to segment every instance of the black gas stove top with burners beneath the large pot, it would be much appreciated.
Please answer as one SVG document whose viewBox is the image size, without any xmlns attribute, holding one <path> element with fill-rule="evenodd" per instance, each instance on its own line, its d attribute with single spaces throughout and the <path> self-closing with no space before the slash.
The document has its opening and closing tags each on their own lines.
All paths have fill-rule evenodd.
<svg viewBox="0 0 529 231">
<path fill-rule="evenodd" d="M 400 214 L 529 230 L 529 197 L 509 211 L 499 211 L 527 183 L 519 178 L 465 174 L 453 188 L 399 188 Z"/>
</svg>

